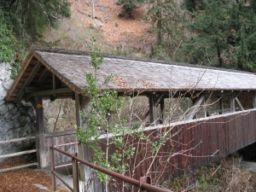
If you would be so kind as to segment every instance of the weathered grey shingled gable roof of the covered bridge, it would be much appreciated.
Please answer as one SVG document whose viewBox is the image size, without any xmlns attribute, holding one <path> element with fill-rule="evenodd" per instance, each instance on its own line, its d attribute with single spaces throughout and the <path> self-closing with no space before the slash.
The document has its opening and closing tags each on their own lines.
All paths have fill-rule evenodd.
<svg viewBox="0 0 256 192">
<path fill-rule="evenodd" d="M 60 93 L 63 97 L 70 97 L 73 92 L 83 93 L 84 73 L 91 72 L 87 52 L 34 48 L 6 100 L 18 102 L 38 91 L 47 91 L 45 98 Z M 110 74 L 113 80 L 104 84 L 102 90 L 256 90 L 254 73 L 106 55 L 98 77 L 103 82 Z M 55 89 L 63 91 L 50 91 Z"/>
</svg>

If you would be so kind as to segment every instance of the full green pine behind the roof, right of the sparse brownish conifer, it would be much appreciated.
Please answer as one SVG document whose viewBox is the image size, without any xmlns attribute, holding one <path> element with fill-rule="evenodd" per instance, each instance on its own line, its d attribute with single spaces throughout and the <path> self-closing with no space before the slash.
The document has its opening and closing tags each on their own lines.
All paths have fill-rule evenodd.
<svg viewBox="0 0 256 192">
<path fill-rule="evenodd" d="M 194 22 L 188 22 L 185 27 L 191 32 L 191 37 L 183 44 L 183 60 L 189 63 L 223 67 L 224 53 L 228 48 L 227 37 L 229 27 L 228 10 L 223 1 L 203 1 L 204 6 L 197 12 L 190 13 Z M 179 56 L 179 55 L 178 55 Z"/>
</svg>

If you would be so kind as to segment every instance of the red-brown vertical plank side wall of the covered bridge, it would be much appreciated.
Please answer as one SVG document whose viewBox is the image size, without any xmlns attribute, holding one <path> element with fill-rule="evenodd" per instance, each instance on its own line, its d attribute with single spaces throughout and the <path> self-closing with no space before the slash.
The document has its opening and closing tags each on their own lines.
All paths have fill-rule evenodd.
<svg viewBox="0 0 256 192">
<path fill-rule="evenodd" d="M 256 139 L 256 110 L 247 110 L 239 113 L 224 114 L 210 119 L 201 119 L 189 123 L 184 123 L 175 126 L 169 126 L 166 131 L 170 130 L 170 136 L 172 141 L 168 140 L 165 145 L 160 148 L 157 158 L 154 160 L 154 166 L 151 167 L 150 175 L 153 178 L 153 183 L 157 178 L 160 178 L 160 182 L 163 182 L 171 177 L 177 177 L 182 175 L 189 169 L 195 169 L 200 166 L 205 166 L 214 160 L 218 160 L 228 154 L 235 152 L 240 148 L 244 148 L 251 143 L 255 143 Z M 163 132 L 162 129 L 152 129 L 144 131 L 144 134 L 148 137 L 152 137 L 158 140 L 157 134 Z M 173 136 L 177 133 L 175 136 Z M 154 137 L 153 137 L 154 136 Z M 145 148 L 139 137 L 131 139 L 131 137 L 124 137 L 125 141 L 131 142 L 131 145 L 141 150 Z M 133 141 L 133 143 L 132 143 Z M 102 140 L 102 148 L 104 146 Z M 152 146 L 148 145 L 148 149 Z M 109 154 L 111 155 L 116 149 L 114 145 L 109 148 Z M 176 154 L 172 158 L 166 158 L 163 153 L 174 154 L 177 152 L 183 152 L 183 154 Z M 216 153 L 217 152 L 217 153 Z M 150 154 L 148 152 L 147 154 Z M 185 154 L 185 155 L 184 155 Z M 211 156 L 214 154 L 213 156 Z M 189 156 L 190 155 L 190 156 Z M 135 169 L 134 174 L 125 172 L 125 175 L 139 179 L 143 177 L 148 170 L 153 158 L 145 160 L 145 153 L 137 154 L 137 156 L 127 160 L 130 167 L 130 172 L 133 169 L 134 163 L 142 161 L 140 166 Z M 165 161 L 167 160 L 167 161 Z M 168 162 L 163 175 L 160 172 L 163 171 L 164 162 Z M 115 185 L 111 185 L 112 191 Z M 127 186 L 127 191 L 131 191 L 131 188 Z"/>
</svg>

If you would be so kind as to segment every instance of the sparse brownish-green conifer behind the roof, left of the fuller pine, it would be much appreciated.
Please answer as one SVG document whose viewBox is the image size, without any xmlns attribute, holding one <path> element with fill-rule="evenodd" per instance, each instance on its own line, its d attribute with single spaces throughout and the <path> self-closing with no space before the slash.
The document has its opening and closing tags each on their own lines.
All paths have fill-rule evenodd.
<svg viewBox="0 0 256 192">
<path fill-rule="evenodd" d="M 184 13 L 174 0 L 151 0 L 149 3 L 150 9 L 143 18 L 151 23 L 157 33 L 154 58 L 166 59 L 176 51 L 184 38 Z"/>
</svg>

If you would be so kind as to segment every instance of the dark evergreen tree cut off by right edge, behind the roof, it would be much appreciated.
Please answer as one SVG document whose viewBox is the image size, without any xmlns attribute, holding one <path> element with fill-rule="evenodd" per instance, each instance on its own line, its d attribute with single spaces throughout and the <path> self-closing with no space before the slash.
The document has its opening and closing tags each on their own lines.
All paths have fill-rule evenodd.
<svg viewBox="0 0 256 192">
<path fill-rule="evenodd" d="M 236 1 L 230 9 L 230 55 L 233 66 L 256 72 L 256 2 Z"/>
</svg>

